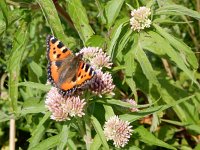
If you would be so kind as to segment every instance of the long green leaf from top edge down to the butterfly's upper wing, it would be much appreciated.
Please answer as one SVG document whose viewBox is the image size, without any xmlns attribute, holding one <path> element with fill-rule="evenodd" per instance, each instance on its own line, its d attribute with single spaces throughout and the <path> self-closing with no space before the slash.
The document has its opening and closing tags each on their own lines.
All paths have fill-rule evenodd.
<svg viewBox="0 0 200 150">
<path fill-rule="evenodd" d="M 52 32 L 56 35 L 56 37 L 60 39 L 63 43 L 65 43 L 69 48 L 73 47 L 75 45 L 75 41 L 64 34 L 53 1 L 52 0 L 36 0 L 36 1 L 41 7 L 45 18 L 49 23 Z"/>
</svg>

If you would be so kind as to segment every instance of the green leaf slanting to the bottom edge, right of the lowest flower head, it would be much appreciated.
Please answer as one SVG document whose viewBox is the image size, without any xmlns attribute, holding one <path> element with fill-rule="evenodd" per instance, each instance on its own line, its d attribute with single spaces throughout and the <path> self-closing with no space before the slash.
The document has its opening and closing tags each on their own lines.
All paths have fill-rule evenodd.
<svg viewBox="0 0 200 150">
<path fill-rule="evenodd" d="M 157 145 L 157 146 L 164 147 L 167 149 L 176 149 L 173 146 L 156 138 L 152 133 L 150 133 L 143 126 L 139 126 L 138 128 L 134 129 L 134 133 L 138 135 L 139 140 L 143 141 L 144 143 L 147 143 L 150 145 Z"/>
</svg>

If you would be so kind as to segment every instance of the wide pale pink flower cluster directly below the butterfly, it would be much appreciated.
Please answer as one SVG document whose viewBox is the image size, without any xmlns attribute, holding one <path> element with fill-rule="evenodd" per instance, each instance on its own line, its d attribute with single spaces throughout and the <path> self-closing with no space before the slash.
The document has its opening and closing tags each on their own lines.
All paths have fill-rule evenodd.
<svg viewBox="0 0 200 150">
<path fill-rule="evenodd" d="M 58 93 L 57 88 L 52 87 L 47 93 L 46 107 L 52 112 L 51 119 L 56 121 L 70 120 L 70 117 L 84 115 L 84 99 L 79 96 L 69 96 L 64 98 Z"/>
</svg>

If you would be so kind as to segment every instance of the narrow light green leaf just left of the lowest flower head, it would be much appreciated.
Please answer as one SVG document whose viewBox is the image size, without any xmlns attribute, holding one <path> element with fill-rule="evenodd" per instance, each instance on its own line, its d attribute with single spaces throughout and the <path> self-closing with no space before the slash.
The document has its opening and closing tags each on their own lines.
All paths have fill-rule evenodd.
<svg viewBox="0 0 200 150">
<path fill-rule="evenodd" d="M 99 137 L 101 139 L 101 142 L 102 142 L 104 148 L 109 150 L 109 146 L 108 146 L 108 143 L 106 141 L 106 137 L 103 133 L 103 130 L 101 128 L 101 124 L 99 123 L 99 121 L 94 116 L 91 116 L 91 121 L 92 121 L 92 124 L 95 128 L 95 131 L 97 132 L 97 134 L 99 135 Z"/>
</svg>

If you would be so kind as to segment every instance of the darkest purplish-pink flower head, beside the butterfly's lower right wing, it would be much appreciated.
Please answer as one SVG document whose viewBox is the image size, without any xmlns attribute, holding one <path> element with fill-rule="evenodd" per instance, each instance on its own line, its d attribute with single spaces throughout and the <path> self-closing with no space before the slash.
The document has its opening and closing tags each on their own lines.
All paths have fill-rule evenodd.
<svg viewBox="0 0 200 150">
<path fill-rule="evenodd" d="M 113 84 L 113 79 L 110 73 L 103 73 L 101 70 L 96 70 L 96 75 L 94 76 L 92 84 L 90 84 L 90 90 L 99 96 L 101 94 L 112 94 L 115 85 Z"/>
</svg>

